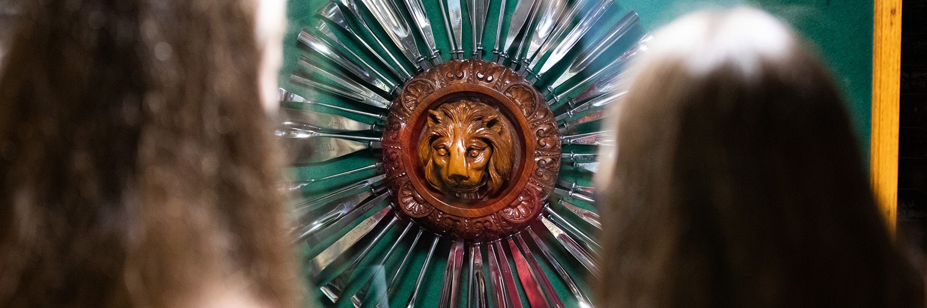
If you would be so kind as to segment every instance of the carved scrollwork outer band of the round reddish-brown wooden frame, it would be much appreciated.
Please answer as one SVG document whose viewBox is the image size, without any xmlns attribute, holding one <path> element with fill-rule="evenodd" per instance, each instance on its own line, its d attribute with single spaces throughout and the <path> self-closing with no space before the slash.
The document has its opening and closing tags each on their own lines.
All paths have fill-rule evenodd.
<svg viewBox="0 0 927 308">
<path fill-rule="evenodd" d="M 527 179 L 517 179 L 526 183 L 524 188 L 508 191 L 509 196 L 502 200 L 511 202 L 498 206 L 491 213 L 459 215 L 443 211 L 440 206 L 429 203 L 428 198 L 410 179 L 417 177 L 418 173 L 413 168 L 419 166 L 410 166 L 413 164 L 409 162 L 413 160 L 407 158 L 416 155 L 417 150 L 403 144 L 409 144 L 407 142 L 410 138 L 418 138 L 411 130 L 418 120 L 415 115 L 421 113 L 418 109 L 428 107 L 423 105 L 429 104 L 424 101 L 425 98 L 436 92 L 448 92 L 443 90 L 448 87 L 453 90 L 449 92 L 451 94 L 484 92 L 507 99 L 508 103 L 500 107 L 514 106 L 506 107 L 514 109 L 508 110 L 508 114 L 521 117 L 513 122 L 523 123 L 520 129 L 526 131 L 517 138 L 531 145 L 531 154 L 521 157 L 522 160 L 529 160 L 524 166 L 530 172 L 524 172 Z M 409 80 L 389 110 L 383 148 L 394 206 L 422 227 L 465 240 L 495 240 L 524 228 L 540 215 L 560 169 L 560 133 L 543 97 L 511 68 L 483 60 L 452 60 Z M 510 182 L 517 180 L 512 179 Z"/>
</svg>

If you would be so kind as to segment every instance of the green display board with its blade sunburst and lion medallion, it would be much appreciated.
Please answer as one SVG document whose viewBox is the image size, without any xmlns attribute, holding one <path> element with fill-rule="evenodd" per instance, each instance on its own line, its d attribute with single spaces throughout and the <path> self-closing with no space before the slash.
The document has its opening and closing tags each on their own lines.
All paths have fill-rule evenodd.
<svg viewBox="0 0 927 308">
<path fill-rule="evenodd" d="M 277 135 L 294 158 L 291 216 L 307 305 L 372 307 L 386 295 L 389 306 L 585 306 L 601 224 L 594 154 L 612 142 L 599 133 L 601 111 L 620 98 L 606 90 L 625 81 L 624 64 L 648 31 L 692 10 L 751 5 L 792 23 L 832 65 L 868 145 L 871 4 L 830 1 L 290 0 L 279 79 L 286 125 Z M 568 22 L 545 19 L 577 3 Z M 428 18 L 431 31 L 413 16 Z M 506 55 L 528 61 L 491 52 L 499 24 Z M 522 24 L 527 35 L 509 29 Z M 545 50 L 545 32 L 561 28 Z M 474 56 L 480 36 L 484 51 Z"/>
</svg>

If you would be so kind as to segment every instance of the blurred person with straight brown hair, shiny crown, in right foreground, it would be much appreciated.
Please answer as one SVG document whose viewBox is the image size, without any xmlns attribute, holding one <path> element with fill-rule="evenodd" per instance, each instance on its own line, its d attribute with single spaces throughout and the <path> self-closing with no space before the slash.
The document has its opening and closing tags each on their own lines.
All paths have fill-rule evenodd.
<svg viewBox="0 0 927 308">
<path fill-rule="evenodd" d="M 696 13 L 648 48 L 597 175 L 598 307 L 922 304 L 841 94 L 789 27 Z"/>
</svg>

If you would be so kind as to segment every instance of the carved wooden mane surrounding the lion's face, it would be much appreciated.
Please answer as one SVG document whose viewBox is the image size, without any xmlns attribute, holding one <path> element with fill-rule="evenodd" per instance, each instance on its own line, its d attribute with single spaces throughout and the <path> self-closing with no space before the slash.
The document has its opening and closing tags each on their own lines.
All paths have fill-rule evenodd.
<svg viewBox="0 0 927 308">
<path fill-rule="evenodd" d="M 514 166 L 512 127 L 502 113 L 489 105 L 471 101 L 440 105 L 429 112 L 428 124 L 418 143 L 418 161 L 425 169 L 425 179 L 437 188 L 443 187 L 431 159 L 434 152 L 431 143 L 439 137 L 451 137 L 451 126 L 460 125 L 464 129 L 459 131 L 471 138 L 482 139 L 492 148 L 487 166 L 487 194 L 502 189 L 502 184 L 509 178 Z"/>
</svg>

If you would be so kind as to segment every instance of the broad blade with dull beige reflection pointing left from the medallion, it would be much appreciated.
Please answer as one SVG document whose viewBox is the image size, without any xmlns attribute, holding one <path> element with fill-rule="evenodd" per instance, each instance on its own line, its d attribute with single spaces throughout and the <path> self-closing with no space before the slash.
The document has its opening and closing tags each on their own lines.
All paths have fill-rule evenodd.
<svg viewBox="0 0 927 308">
<path fill-rule="evenodd" d="M 355 142 L 340 138 L 278 138 L 292 164 L 321 163 L 374 147 L 373 142 Z"/>
</svg>

